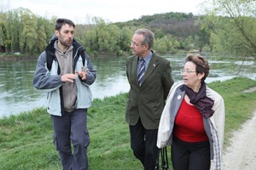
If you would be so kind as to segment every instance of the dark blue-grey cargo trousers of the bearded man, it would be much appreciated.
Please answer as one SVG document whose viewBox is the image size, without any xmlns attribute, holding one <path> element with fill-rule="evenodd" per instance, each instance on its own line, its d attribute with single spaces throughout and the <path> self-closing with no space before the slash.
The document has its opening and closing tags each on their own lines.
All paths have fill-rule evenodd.
<svg viewBox="0 0 256 170">
<path fill-rule="evenodd" d="M 59 150 L 62 169 L 87 170 L 87 146 L 90 144 L 87 109 L 65 112 L 62 116 L 51 116 L 51 121 L 55 149 Z"/>
</svg>

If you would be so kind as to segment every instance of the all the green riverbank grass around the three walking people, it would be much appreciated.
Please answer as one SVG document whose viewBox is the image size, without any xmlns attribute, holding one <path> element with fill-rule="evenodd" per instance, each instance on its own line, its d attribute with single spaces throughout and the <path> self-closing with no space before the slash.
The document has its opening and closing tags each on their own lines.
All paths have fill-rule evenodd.
<svg viewBox="0 0 256 170">
<path fill-rule="evenodd" d="M 231 133 L 252 116 L 256 92 L 243 93 L 243 90 L 255 87 L 256 82 L 239 77 L 208 85 L 224 97 L 226 147 L 230 143 Z M 143 169 L 130 147 L 129 127 L 125 122 L 126 98 L 127 94 L 119 94 L 95 99 L 88 112 L 91 170 Z M 44 108 L 0 119 L 0 169 L 61 169 L 60 158 L 52 143 L 50 116 Z"/>
</svg>

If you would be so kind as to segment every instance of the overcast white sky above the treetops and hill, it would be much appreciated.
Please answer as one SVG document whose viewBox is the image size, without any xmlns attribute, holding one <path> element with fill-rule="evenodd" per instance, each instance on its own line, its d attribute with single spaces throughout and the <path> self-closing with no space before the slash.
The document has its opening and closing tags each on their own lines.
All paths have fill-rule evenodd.
<svg viewBox="0 0 256 170">
<path fill-rule="evenodd" d="M 33 14 L 47 19 L 52 16 L 85 24 L 92 17 L 107 22 L 125 22 L 143 15 L 183 12 L 199 14 L 199 5 L 205 0 L 0 0 L 0 7 L 28 8 Z M 150 3 L 151 2 L 151 3 Z"/>
</svg>

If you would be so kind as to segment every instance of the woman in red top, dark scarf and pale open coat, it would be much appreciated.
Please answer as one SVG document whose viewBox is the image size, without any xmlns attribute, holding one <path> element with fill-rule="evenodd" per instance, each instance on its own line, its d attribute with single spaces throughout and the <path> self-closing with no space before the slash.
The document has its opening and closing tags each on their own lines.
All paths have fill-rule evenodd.
<svg viewBox="0 0 256 170">
<path fill-rule="evenodd" d="M 173 84 L 160 118 L 157 146 L 172 145 L 175 170 L 221 169 L 224 99 L 208 88 L 207 59 L 188 54 L 183 82 Z"/>
</svg>

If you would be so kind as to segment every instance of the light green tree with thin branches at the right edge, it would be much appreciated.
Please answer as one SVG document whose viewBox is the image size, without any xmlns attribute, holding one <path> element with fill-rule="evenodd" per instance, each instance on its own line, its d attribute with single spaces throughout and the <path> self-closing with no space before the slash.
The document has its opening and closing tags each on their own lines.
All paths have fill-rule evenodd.
<svg viewBox="0 0 256 170">
<path fill-rule="evenodd" d="M 207 22 L 212 26 L 212 50 L 256 59 L 256 1 L 212 0 Z"/>
</svg>

